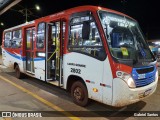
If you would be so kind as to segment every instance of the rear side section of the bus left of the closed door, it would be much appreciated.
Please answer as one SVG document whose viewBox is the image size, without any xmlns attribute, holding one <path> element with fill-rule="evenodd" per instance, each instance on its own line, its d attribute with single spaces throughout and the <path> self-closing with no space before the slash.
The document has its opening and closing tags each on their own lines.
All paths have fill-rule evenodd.
<svg viewBox="0 0 160 120">
<path fill-rule="evenodd" d="M 10 68 L 15 68 L 16 65 L 19 65 L 21 72 L 23 72 L 24 64 L 22 41 L 21 27 L 7 29 L 3 32 L 2 62 Z"/>
</svg>

